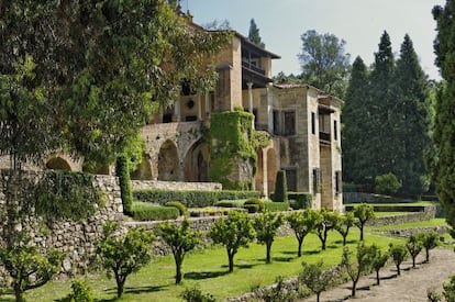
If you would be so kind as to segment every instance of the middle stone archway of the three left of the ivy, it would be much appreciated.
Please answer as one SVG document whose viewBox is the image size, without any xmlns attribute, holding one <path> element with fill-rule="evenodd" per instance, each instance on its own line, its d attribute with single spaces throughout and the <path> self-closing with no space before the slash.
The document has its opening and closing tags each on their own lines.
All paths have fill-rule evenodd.
<svg viewBox="0 0 455 302">
<path fill-rule="evenodd" d="M 158 180 L 177 181 L 179 174 L 179 158 L 176 145 L 167 139 L 159 148 Z"/>
</svg>

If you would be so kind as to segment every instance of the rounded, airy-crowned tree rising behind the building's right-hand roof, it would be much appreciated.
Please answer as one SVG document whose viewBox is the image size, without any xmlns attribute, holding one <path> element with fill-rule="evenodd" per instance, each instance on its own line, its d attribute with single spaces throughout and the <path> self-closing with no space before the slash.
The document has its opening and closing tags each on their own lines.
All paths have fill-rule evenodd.
<svg viewBox="0 0 455 302">
<path fill-rule="evenodd" d="M 344 51 L 346 42 L 314 30 L 307 31 L 300 38 L 302 53 L 299 60 L 307 82 L 326 93 L 343 97 L 349 70 L 349 55 Z"/>
</svg>

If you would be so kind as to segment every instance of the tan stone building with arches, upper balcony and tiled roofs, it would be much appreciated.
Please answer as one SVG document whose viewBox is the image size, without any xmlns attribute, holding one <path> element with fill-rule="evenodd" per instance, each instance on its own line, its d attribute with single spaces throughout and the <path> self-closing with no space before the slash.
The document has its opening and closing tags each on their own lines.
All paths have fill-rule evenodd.
<svg viewBox="0 0 455 302">
<path fill-rule="evenodd" d="M 180 99 L 143 127 L 143 160 L 132 178 L 176 183 L 211 181 L 210 142 L 204 139 L 211 114 L 243 108 L 254 114 L 255 130 L 273 137 L 268 146 L 257 150 L 251 181 L 254 189 L 268 197 L 275 188 L 276 172 L 282 169 L 290 191 L 312 193 L 314 208 L 341 210 L 343 102 L 311 86 L 274 83 L 271 60 L 278 58 L 234 33 L 213 58 L 219 74 L 215 89 L 198 93 L 182 86 Z M 25 168 L 77 171 L 82 170 L 82 159 L 55 153 L 40 167 Z M 0 166 L 8 167 L 8 159 L 0 158 Z M 112 167 L 99 172 L 111 175 Z"/>
</svg>

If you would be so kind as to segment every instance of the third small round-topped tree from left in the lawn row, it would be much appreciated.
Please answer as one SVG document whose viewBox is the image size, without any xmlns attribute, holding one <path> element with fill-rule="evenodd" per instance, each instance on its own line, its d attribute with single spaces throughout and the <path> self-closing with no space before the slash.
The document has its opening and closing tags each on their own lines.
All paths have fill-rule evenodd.
<svg viewBox="0 0 455 302">
<path fill-rule="evenodd" d="M 201 243 L 201 233 L 189 228 L 187 220 L 181 222 L 178 227 L 174 223 L 165 223 L 159 225 L 160 236 L 163 241 L 170 247 L 176 262 L 176 284 L 181 282 L 181 265 L 185 255 Z"/>
</svg>

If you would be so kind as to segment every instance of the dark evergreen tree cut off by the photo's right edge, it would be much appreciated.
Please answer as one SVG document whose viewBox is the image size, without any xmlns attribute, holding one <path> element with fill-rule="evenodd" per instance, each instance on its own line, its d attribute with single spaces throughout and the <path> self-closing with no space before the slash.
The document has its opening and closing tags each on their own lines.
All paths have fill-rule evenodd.
<svg viewBox="0 0 455 302">
<path fill-rule="evenodd" d="M 446 212 L 447 223 L 455 226 L 455 1 L 447 0 L 445 7 L 435 7 L 433 16 L 437 23 L 434 42 L 436 65 L 446 80 L 444 91 L 439 93 L 434 125 L 433 177 L 437 184 L 437 197 Z M 454 234 L 453 234 L 454 235 Z"/>
</svg>

